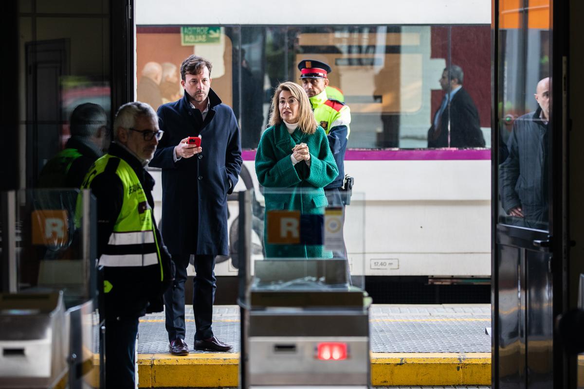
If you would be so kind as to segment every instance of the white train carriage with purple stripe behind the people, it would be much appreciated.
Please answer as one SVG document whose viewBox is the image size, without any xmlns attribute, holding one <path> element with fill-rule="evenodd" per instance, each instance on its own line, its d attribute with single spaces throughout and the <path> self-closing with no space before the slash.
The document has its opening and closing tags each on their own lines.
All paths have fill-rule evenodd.
<svg viewBox="0 0 584 389">
<path fill-rule="evenodd" d="M 178 68 L 193 53 L 210 59 L 211 87 L 234 108 L 241 127 L 244 172 L 235 190 L 254 189 L 255 216 L 262 218 L 253 159 L 273 88 L 284 80 L 299 82 L 300 59 L 327 62 L 331 85 L 342 91 L 352 114 L 345 171 L 355 178 L 354 191 L 364 194 L 364 201 L 346 209 L 353 274 L 484 282 L 491 272 L 491 2 L 418 0 L 397 7 L 367 0 L 356 7 L 339 1 L 331 8 L 338 12 L 263 0 L 221 10 L 212 3 L 141 0 L 137 99 L 148 62 Z M 439 78 L 451 64 L 463 68 L 485 148 L 427 148 L 444 94 Z M 182 93 L 177 73 L 173 94 L 163 93 L 161 104 Z M 169 74 L 163 78 L 172 80 Z M 364 225 L 353 223 L 361 214 Z M 236 219 L 237 204 L 230 204 L 231 240 Z M 255 223 L 253 234 L 256 255 L 262 252 L 261 224 Z M 237 260 L 217 262 L 218 276 L 237 274 Z"/>
</svg>

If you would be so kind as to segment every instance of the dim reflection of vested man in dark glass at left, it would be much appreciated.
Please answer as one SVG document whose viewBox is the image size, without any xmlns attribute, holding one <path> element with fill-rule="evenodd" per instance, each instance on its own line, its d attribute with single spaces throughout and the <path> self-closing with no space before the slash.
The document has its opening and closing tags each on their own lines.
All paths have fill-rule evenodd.
<svg viewBox="0 0 584 389">
<path fill-rule="evenodd" d="M 98 104 L 85 103 L 69 119 L 71 138 L 65 149 L 49 160 L 39 176 L 39 188 L 79 188 L 89 167 L 103 155 L 107 116 Z"/>
</svg>

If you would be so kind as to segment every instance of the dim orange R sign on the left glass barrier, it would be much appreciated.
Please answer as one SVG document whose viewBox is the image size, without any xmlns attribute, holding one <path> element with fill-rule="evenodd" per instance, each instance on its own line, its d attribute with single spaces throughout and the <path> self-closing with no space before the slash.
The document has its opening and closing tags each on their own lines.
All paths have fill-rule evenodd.
<svg viewBox="0 0 584 389">
<path fill-rule="evenodd" d="M 33 244 L 62 246 L 69 239 L 69 223 L 64 209 L 39 209 L 31 213 Z"/>
</svg>

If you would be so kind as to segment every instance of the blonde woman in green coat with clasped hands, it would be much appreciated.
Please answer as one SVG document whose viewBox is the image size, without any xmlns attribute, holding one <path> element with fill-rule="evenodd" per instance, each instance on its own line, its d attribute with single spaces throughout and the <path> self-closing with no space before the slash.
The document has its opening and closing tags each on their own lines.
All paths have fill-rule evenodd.
<svg viewBox="0 0 584 389">
<path fill-rule="evenodd" d="M 322 215 L 328 202 L 322 188 L 339 170 L 325 131 L 314 120 L 308 96 L 296 83 L 283 82 L 276 88 L 270 127 L 259 141 L 255 167 L 259 183 L 265 187 L 266 258 L 332 258 L 323 246 Z M 277 211 L 302 215 L 298 220 L 298 213 L 284 213 L 300 225 L 300 236 L 294 233 L 294 222 L 290 229 L 284 228 L 286 244 L 272 243 L 281 241 L 277 217 L 283 213 Z M 271 231 L 275 232 L 273 237 Z"/>
</svg>

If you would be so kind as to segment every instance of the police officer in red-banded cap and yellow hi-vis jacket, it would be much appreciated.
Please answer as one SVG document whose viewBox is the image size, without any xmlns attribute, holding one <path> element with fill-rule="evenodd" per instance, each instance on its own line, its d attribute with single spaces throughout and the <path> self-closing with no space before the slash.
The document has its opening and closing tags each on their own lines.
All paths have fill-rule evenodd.
<svg viewBox="0 0 584 389">
<path fill-rule="evenodd" d="M 308 94 L 308 99 L 314 111 L 314 118 L 324 128 L 332 155 L 335 157 L 336 166 L 339 168 L 339 175 L 324 188 L 326 198 L 329 206 L 344 207 L 339 191 L 345 180 L 345 151 L 347 149 L 347 140 L 349 139 L 351 111 L 345 103 L 332 99 L 326 93 L 327 88 L 329 90 L 331 88 L 329 87 L 328 79 L 328 73 L 332 71 L 331 66 L 314 59 L 303 59 L 298 64 L 298 69 L 300 70 L 302 86 Z M 335 90 L 338 91 L 336 88 Z M 342 93 L 340 96 L 342 96 Z M 343 210 L 343 223 L 345 221 L 344 214 Z M 335 250 L 333 251 L 333 256 L 335 258 L 346 258 L 346 250 Z"/>
</svg>

